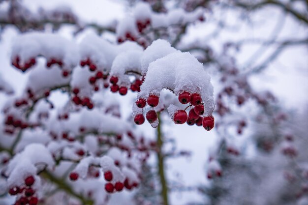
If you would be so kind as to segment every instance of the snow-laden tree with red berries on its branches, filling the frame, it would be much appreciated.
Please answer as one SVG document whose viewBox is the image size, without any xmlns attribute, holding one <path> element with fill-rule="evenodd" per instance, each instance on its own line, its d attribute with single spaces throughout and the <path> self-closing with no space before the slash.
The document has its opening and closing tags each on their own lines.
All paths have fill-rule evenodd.
<svg viewBox="0 0 308 205">
<path fill-rule="evenodd" d="M 100 25 L 83 22 L 67 7 L 33 13 L 22 1 L 0 1 L 5 4 L 1 31 L 13 26 L 20 32 L 7 69 L 28 78 L 21 94 L 13 94 L 13 87 L 0 78 L 0 90 L 6 93 L 0 125 L 0 186 L 1 196 L 15 196 L 11 204 L 125 204 L 127 191 L 140 187 L 135 202 L 129 203 L 169 205 L 173 187 L 165 175 L 166 159 L 187 152 L 165 149 L 164 120 L 203 126 L 204 132 L 216 124 L 218 141 L 207 162 L 207 177 L 215 179 L 223 175 L 223 150 L 240 154 L 232 136 L 242 135 L 248 127 L 251 116 L 243 108 L 250 102 L 272 127 L 284 121 L 286 114 L 275 109 L 275 96 L 258 91 L 249 79 L 282 51 L 307 45 L 307 36 L 280 40 L 275 34 L 269 39 L 219 42 L 220 51 L 208 42 L 235 27 L 228 18 L 216 18 L 219 10 L 249 19 L 249 12 L 274 6 L 306 29 L 308 17 L 297 9 L 298 4 L 307 6 L 306 1 L 127 2 L 130 10 L 124 18 Z M 187 40 L 189 31 L 207 24 L 216 25 L 213 33 Z M 74 30 L 71 39 L 58 32 L 67 26 Z M 237 52 L 251 42 L 275 50 L 256 64 L 252 61 L 261 49 L 241 67 Z M 219 82 L 215 100 L 209 71 Z M 55 96 L 59 91 L 62 105 Z M 127 93 L 135 93 L 128 120 L 120 108 Z M 140 131 L 146 123 L 155 129 L 155 139 Z M 269 138 L 271 145 L 280 145 L 275 136 Z M 267 146 L 268 141 L 260 145 Z M 293 157 L 292 150 L 286 147 L 284 153 Z M 147 163 L 152 155 L 155 170 Z"/>
</svg>

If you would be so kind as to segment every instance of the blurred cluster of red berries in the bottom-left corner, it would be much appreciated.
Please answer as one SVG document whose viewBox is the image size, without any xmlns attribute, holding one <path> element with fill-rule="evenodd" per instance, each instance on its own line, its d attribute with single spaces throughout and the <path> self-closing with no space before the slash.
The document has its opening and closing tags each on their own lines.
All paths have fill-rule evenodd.
<svg viewBox="0 0 308 205">
<path fill-rule="evenodd" d="M 35 179 L 33 176 L 28 176 L 25 178 L 25 186 L 15 186 L 8 190 L 8 193 L 12 196 L 19 194 L 14 205 L 37 205 L 38 199 L 34 196 L 35 190 L 31 188 L 34 181 Z"/>
</svg>

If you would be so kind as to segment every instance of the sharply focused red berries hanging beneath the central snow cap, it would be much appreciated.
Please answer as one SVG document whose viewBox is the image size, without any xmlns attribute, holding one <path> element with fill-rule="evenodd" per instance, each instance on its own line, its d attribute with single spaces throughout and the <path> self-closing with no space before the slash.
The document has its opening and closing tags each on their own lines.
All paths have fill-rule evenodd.
<svg viewBox="0 0 308 205">
<path fill-rule="evenodd" d="M 174 123 L 184 124 L 185 122 L 187 122 L 188 125 L 202 125 L 208 131 L 210 131 L 214 127 L 213 116 L 201 117 L 204 114 L 204 106 L 202 104 L 202 98 L 200 94 L 190 94 L 189 92 L 184 91 L 179 94 L 179 101 L 182 104 L 190 103 L 190 106 L 193 107 L 192 109 L 190 109 L 188 115 L 185 110 L 176 111 L 173 116 Z M 159 103 L 159 97 L 157 95 L 150 94 L 147 100 L 140 98 L 136 101 L 136 105 L 138 108 L 144 108 L 147 103 L 150 107 L 156 107 Z M 146 114 L 146 118 L 149 123 L 153 123 L 157 120 L 157 114 L 154 110 L 150 110 Z M 134 117 L 134 121 L 136 124 L 143 124 L 145 118 L 142 114 L 138 114 Z"/>
</svg>

